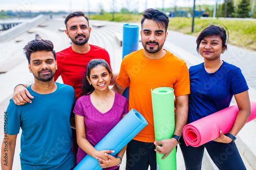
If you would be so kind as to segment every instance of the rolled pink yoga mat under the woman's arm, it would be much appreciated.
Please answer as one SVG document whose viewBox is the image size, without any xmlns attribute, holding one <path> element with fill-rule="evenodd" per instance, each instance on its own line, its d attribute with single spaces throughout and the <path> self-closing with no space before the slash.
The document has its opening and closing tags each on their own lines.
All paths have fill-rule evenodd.
<svg viewBox="0 0 256 170">
<path fill-rule="evenodd" d="M 256 118 L 256 103 L 252 101 L 250 103 L 251 115 L 246 123 Z M 220 137 L 220 130 L 226 134 L 232 128 L 238 112 L 238 106 L 234 105 L 187 124 L 183 129 L 186 145 L 199 147 Z"/>
</svg>

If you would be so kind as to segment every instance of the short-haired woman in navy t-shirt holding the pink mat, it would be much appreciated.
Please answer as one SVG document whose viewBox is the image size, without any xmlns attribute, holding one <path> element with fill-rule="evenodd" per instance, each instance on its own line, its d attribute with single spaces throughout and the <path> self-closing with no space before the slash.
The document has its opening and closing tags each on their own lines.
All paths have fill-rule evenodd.
<svg viewBox="0 0 256 170">
<path fill-rule="evenodd" d="M 220 26 L 210 25 L 197 38 L 197 51 L 204 63 L 189 68 L 190 95 L 187 124 L 229 107 L 232 96 L 239 113 L 227 134 L 200 147 L 180 145 L 186 169 L 201 169 L 204 148 L 219 169 L 246 169 L 234 143 L 236 135 L 250 116 L 248 86 L 240 68 L 220 59 L 227 49 L 227 34 Z"/>
</svg>

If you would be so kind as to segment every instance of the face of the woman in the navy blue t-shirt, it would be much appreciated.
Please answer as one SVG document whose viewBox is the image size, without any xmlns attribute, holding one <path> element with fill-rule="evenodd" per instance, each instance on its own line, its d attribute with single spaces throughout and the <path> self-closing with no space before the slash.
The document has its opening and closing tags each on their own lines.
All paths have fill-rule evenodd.
<svg viewBox="0 0 256 170">
<path fill-rule="evenodd" d="M 222 40 L 217 35 L 205 36 L 199 44 L 199 53 L 208 61 L 220 60 L 220 56 L 226 50 L 222 47 Z"/>
</svg>

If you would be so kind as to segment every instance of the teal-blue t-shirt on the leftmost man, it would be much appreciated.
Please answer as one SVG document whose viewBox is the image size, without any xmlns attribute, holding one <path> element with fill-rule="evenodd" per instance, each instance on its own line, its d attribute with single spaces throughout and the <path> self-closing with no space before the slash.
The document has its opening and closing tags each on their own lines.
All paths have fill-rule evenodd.
<svg viewBox="0 0 256 170">
<path fill-rule="evenodd" d="M 7 108 L 8 134 L 20 138 L 20 163 L 22 169 L 71 169 L 75 159 L 72 152 L 70 117 L 75 104 L 73 87 L 57 84 L 53 93 L 38 94 L 29 86 L 34 96 L 32 103 L 22 106 L 10 100 Z"/>
</svg>

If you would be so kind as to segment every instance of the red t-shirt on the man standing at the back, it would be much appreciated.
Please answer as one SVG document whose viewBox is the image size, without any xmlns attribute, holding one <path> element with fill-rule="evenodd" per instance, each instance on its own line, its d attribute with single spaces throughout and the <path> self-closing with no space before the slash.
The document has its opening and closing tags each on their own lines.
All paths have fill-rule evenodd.
<svg viewBox="0 0 256 170">
<path fill-rule="evenodd" d="M 54 80 L 56 81 L 61 76 L 64 84 L 70 85 L 75 89 L 76 99 L 80 96 L 81 82 L 86 73 L 87 64 L 92 59 L 103 59 L 110 65 L 109 53 L 104 48 L 89 45 L 91 49 L 85 54 L 74 52 L 72 46 L 56 53 L 57 70 Z"/>
</svg>

